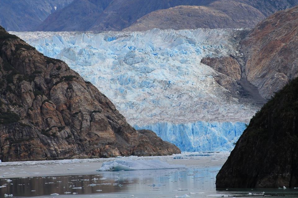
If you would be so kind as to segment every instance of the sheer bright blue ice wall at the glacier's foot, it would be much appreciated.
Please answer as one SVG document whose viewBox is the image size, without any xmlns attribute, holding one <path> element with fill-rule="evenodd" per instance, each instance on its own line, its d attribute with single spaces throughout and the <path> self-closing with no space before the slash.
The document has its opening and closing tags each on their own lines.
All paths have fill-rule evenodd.
<svg viewBox="0 0 298 198">
<path fill-rule="evenodd" d="M 154 131 L 161 139 L 175 144 L 181 151 L 232 151 L 246 128 L 242 122 L 205 122 L 173 124 L 155 123 L 134 126 Z"/>
</svg>

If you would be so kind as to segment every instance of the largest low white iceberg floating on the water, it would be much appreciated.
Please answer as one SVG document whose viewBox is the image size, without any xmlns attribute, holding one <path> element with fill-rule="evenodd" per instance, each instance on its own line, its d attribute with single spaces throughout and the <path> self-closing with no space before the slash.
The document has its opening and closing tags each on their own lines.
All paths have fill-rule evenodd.
<svg viewBox="0 0 298 198">
<path fill-rule="evenodd" d="M 174 169 L 185 168 L 185 165 L 170 165 L 160 160 L 114 160 L 104 162 L 97 171 L 120 171 L 120 170 L 151 170 L 151 169 Z"/>
</svg>

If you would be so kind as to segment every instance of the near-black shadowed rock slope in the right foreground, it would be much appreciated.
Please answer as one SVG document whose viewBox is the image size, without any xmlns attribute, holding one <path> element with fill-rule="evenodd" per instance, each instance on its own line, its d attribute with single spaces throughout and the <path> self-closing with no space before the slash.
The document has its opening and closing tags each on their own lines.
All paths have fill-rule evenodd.
<svg viewBox="0 0 298 198">
<path fill-rule="evenodd" d="M 298 78 L 251 119 L 216 176 L 217 188 L 297 187 Z"/>
</svg>

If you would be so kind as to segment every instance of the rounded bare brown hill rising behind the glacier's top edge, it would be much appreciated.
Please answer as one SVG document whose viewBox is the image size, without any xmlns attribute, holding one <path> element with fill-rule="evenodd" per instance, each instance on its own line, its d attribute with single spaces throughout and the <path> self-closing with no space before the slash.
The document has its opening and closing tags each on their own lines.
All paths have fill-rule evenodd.
<svg viewBox="0 0 298 198">
<path fill-rule="evenodd" d="M 176 6 L 153 11 L 124 31 L 196 28 L 252 28 L 264 19 L 256 8 L 235 1 L 216 1 L 208 6 Z"/>
</svg>

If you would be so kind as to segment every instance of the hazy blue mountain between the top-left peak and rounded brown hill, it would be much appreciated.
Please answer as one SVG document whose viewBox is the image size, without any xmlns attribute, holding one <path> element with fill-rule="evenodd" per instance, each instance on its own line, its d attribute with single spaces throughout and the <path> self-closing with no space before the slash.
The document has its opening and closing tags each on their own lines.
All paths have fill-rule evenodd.
<svg viewBox="0 0 298 198">
<path fill-rule="evenodd" d="M 36 30 L 122 30 L 151 11 L 178 5 L 206 5 L 212 1 L 213 0 L 74 0 L 63 10 L 50 15 Z M 75 24 L 75 26 L 73 24 Z"/>
</svg>

